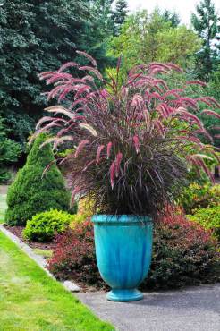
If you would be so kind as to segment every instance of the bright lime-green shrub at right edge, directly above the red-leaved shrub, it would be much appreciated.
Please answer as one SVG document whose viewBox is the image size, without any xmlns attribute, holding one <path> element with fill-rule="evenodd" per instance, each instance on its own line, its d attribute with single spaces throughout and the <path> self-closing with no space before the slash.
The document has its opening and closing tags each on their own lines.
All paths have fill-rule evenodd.
<svg viewBox="0 0 220 331">
<path fill-rule="evenodd" d="M 220 241 L 220 205 L 212 208 L 199 208 L 194 215 L 188 215 L 190 221 L 197 222 L 213 231 Z"/>
</svg>

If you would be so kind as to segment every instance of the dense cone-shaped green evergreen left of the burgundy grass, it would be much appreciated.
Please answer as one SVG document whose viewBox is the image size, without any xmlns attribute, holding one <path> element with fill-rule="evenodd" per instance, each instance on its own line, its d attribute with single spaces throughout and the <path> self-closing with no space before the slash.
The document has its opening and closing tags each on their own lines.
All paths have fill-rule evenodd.
<svg viewBox="0 0 220 331">
<path fill-rule="evenodd" d="M 41 134 L 30 149 L 26 164 L 18 172 L 7 195 L 8 225 L 26 225 L 28 219 L 51 208 L 69 210 L 70 192 L 65 189 L 63 175 L 55 164 L 42 174 L 55 160 L 50 144 L 41 149 L 46 135 Z"/>
</svg>

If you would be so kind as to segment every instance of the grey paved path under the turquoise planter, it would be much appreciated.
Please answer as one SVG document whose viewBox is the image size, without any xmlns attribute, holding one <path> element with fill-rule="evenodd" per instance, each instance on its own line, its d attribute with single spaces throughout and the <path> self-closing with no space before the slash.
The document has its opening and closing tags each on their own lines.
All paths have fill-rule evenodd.
<svg viewBox="0 0 220 331">
<path fill-rule="evenodd" d="M 98 317 L 120 331 L 220 331 L 220 285 L 145 293 L 142 301 L 106 301 L 104 293 L 78 293 Z"/>
</svg>

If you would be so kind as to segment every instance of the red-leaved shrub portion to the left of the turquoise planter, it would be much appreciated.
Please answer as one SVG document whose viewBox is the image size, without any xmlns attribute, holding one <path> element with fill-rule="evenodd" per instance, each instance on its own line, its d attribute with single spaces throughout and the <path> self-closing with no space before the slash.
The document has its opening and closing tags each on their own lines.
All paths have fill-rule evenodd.
<svg viewBox="0 0 220 331">
<path fill-rule="evenodd" d="M 48 269 L 58 279 L 104 285 L 97 270 L 93 225 L 87 220 L 56 237 L 57 246 Z"/>
</svg>

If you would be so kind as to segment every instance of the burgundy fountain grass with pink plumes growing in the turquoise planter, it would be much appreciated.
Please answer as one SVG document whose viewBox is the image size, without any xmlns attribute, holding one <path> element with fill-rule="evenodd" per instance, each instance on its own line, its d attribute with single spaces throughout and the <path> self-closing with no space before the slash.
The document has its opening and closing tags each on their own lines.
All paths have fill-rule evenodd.
<svg viewBox="0 0 220 331">
<path fill-rule="evenodd" d="M 39 74 L 54 84 L 48 100 L 55 98 L 63 106 L 48 107 L 55 117 L 42 118 L 34 135 L 56 129 L 47 142 L 54 142 L 54 148 L 72 143 L 74 152 L 62 161 L 72 203 L 85 195 L 100 213 L 157 215 L 165 201 L 179 195 L 189 164 L 212 177 L 205 159 L 213 149 L 202 144 L 198 134 L 210 136 L 196 113 L 199 103 L 215 108 L 216 100 L 187 98 L 184 87 L 170 90 L 162 76 L 180 72 L 174 64 L 138 65 L 120 86 L 120 60 L 116 78 L 104 81 L 96 61 L 79 53 L 91 66 L 68 63 L 57 72 Z M 72 67 L 79 77 L 64 72 Z"/>
</svg>

